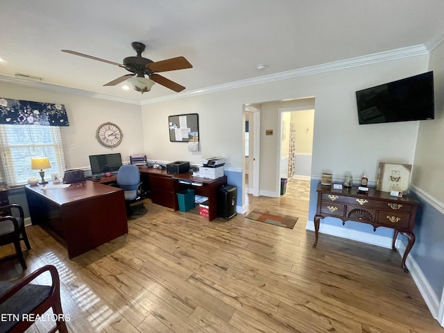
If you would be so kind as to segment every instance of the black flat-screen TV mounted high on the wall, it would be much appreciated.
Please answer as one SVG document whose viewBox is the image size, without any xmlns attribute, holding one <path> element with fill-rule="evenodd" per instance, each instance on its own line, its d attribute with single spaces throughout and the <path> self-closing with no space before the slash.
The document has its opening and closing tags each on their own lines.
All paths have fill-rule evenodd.
<svg viewBox="0 0 444 333">
<path fill-rule="evenodd" d="M 360 124 L 434 119 L 433 71 L 356 92 Z"/>
</svg>

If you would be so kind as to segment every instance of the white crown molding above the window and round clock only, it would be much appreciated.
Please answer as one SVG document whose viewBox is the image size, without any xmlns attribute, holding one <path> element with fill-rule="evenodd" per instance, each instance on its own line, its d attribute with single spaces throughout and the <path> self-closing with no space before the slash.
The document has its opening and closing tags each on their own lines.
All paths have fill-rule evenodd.
<svg viewBox="0 0 444 333">
<path fill-rule="evenodd" d="M 140 102 L 134 99 L 122 99 L 121 97 L 107 95 L 107 94 L 98 94 L 96 92 L 89 92 L 83 89 L 63 87 L 61 85 L 51 85 L 49 83 L 21 80 L 19 78 L 13 78 L 12 76 L 0 75 L 0 83 L 8 83 L 10 85 L 20 85 L 22 87 L 31 87 L 37 89 L 50 90 L 52 92 L 62 92 L 65 94 L 93 97 L 96 99 L 108 99 L 109 101 L 140 105 Z"/>
</svg>

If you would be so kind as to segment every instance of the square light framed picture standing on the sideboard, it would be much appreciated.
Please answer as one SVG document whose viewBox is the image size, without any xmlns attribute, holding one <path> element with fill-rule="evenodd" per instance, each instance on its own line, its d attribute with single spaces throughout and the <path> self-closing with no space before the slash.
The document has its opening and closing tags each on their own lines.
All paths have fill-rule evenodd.
<svg viewBox="0 0 444 333">
<path fill-rule="evenodd" d="M 380 162 L 377 176 L 377 191 L 400 191 L 407 193 L 411 175 L 411 164 Z"/>
</svg>

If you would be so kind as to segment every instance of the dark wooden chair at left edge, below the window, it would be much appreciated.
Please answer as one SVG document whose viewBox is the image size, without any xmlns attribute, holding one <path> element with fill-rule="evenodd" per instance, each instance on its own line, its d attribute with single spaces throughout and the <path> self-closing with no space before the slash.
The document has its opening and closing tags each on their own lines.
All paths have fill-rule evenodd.
<svg viewBox="0 0 444 333">
<path fill-rule="evenodd" d="M 13 212 L 18 213 L 18 217 L 12 216 Z M 17 214 L 16 214 L 17 215 Z M 28 236 L 26 235 L 24 224 L 24 212 L 20 205 L 12 204 L 0 207 L 0 246 L 6 244 L 14 244 L 15 253 L 22 265 L 26 269 L 26 262 L 23 257 L 20 241 L 24 241 L 26 248 L 31 250 Z"/>
</svg>

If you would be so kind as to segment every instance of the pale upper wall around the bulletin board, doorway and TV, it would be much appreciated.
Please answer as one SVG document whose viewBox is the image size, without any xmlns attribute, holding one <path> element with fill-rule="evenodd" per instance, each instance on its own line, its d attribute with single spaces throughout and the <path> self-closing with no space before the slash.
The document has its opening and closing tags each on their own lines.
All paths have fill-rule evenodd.
<svg viewBox="0 0 444 333">
<path fill-rule="evenodd" d="M 261 190 L 278 191 L 278 108 L 287 105 L 266 102 L 315 96 L 311 174 L 331 171 L 341 178 L 345 171 L 352 171 L 358 179 L 365 170 L 369 180 L 375 181 L 379 162 L 413 164 L 418 121 L 359 125 L 355 92 L 427 71 L 427 62 L 427 55 L 413 56 L 142 105 L 146 151 L 160 160 L 191 162 L 200 160 L 200 155 L 230 154 L 228 166 L 241 169 L 242 105 L 260 103 Z M 198 154 L 168 139 L 168 116 L 190 112 L 199 114 L 202 151 Z M 265 135 L 268 129 L 273 135 Z"/>
</svg>

